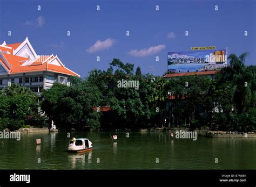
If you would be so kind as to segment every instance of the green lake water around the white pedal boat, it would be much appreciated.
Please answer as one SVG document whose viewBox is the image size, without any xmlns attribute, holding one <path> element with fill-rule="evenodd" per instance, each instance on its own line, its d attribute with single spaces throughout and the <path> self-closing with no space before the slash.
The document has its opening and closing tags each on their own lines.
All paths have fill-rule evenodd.
<svg viewBox="0 0 256 187">
<path fill-rule="evenodd" d="M 117 142 L 110 134 L 118 135 Z M 193 141 L 169 133 L 129 135 L 72 132 L 71 138 L 88 138 L 93 145 L 92 152 L 79 154 L 64 152 L 70 140 L 66 132 L 21 134 L 20 141 L 0 139 L 0 169 L 256 169 L 255 138 L 199 136 Z"/>
</svg>

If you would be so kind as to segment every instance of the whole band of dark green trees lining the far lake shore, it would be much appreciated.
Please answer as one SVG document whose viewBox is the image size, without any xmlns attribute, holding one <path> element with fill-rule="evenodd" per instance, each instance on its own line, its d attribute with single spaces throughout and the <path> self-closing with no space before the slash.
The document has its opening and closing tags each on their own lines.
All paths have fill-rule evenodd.
<svg viewBox="0 0 256 187">
<path fill-rule="evenodd" d="M 93 69 L 86 78 L 70 77 L 70 87 L 54 83 L 37 96 L 12 84 L 0 91 L 0 130 L 24 124 L 47 127 L 53 120 L 63 130 L 100 127 L 141 128 L 208 126 L 213 130 L 252 131 L 256 121 L 255 66 L 245 66 L 247 53 L 228 56 L 230 66 L 214 80 L 182 76 L 166 80 L 142 74 L 140 67 L 113 59 L 107 70 Z M 139 89 L 118 88 L 118 81 L 138 81 Z M 109 106 L 109 112 L 97 112 Z M 26 118 L 28 117 L 29 118 Z"/>
</svg>

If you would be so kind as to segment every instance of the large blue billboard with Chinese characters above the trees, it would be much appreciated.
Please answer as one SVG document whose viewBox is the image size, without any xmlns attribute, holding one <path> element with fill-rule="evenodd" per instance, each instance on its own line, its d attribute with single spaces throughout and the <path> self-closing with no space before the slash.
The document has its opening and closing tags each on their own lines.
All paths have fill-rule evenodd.
<svg viewBox="0 0 256 187">
<path fill-rule="evenodd" d="M 215 70 L 226 65 L 226 49 L 168 52 L 168 71 L 170 73 Z"/>
</svg>

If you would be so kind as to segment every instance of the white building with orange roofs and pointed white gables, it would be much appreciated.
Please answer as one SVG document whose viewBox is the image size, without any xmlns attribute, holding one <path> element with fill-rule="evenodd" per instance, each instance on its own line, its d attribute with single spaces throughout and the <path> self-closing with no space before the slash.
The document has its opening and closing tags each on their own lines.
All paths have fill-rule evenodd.
<svg viewBox="0 0 256 187">
<path fill-rule="evenodd" d="M 54 82 L 68 84 L 70 76 L 80 77 L 57 55 L 37 55 L 28 37 L 22 43 L 0 45 L 0 89 L 19 84 L 40 95 Z"/>
</svg>

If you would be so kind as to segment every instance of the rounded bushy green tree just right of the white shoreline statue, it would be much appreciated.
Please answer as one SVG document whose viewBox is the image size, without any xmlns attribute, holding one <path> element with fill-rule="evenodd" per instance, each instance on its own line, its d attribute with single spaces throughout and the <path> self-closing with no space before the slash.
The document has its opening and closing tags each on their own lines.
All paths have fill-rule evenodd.
<svg viewBox="0 0 256 187">
<path fill-rule="evenodd" d="M 71 81 L 70 87 L 53 84 L 51 89 L 43 91 L 42 97 L 42 110 L 58 128 L 78 130 L 88 125 L 86 119 L 91 119 L 92 107 L 99 105 L 102 94 L 97 87 L 76 79 Z M 99 118 L 91 120 L 89 125 L 98 128 L 97 120 Z"/>
</svg>

